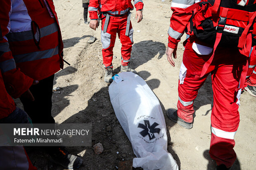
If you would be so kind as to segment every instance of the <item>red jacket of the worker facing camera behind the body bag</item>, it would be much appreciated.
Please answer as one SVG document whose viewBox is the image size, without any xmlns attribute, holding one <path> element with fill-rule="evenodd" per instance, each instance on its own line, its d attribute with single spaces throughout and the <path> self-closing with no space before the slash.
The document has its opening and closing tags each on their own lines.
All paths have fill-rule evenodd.
<svg viewBox="0 0 256 170">
<path fill-rule="evenodd" d="M 143 9 L 142 0 L 133 0 L 136 10 Z M 90 0 L 90 19 L 98 19 L 98 11 L 109 12 L 112 15 L 121 15 L 133 10 L 131 0 Z"/>
</svg>

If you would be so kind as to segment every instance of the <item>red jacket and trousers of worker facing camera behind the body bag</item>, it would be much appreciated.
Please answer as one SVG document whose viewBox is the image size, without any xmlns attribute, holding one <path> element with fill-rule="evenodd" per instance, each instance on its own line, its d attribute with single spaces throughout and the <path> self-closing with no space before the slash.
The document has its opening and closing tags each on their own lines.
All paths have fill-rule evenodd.
<svg viewBox="0 0 256 170">
<path fill-rule="evenodd" d="M 142 0 L 134 0 L 134 5 L 136 10 L 143 8 Z M 130 62 L 130 53 L 133 44 L 133 28 L 129 19 L 130 9 L 133 9 L 131 0 L 101 0 L 101 2 L 98 0 L 90 0 L 88 8 L 90 19 L 98 19 L 98 11 L 103 13 L 101 14 L 101 42 L 103 47 L 103 64 L 105 68 L 113 68 L 112 59 L 116 33 L 118 33 L 118 37 L 122 44 L 121 64 L 126 66 Z M 109 15 L 109 19 L 107 15 Z M 104 29 L 106 24 L 107 26 Z M 129 29 L 127 29 L 128 26 Z"/>
</svg>

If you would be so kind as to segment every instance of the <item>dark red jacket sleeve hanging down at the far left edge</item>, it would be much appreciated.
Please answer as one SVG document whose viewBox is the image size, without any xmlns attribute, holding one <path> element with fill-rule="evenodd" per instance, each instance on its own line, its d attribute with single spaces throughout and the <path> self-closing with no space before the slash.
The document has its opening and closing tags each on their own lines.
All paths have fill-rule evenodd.
<svg viewBox="0 0 256 170">
<path fill-rule="evenodd" d="M 4 0 L 0 5 L 0 69 L 7 92 L 13 98 L 18 98 L 28 91 L 33 79 L 24 75 L 19 68 L 16 68 L 12 51 L 9 49 L 9 43 L 5 37 L 10 29 L 11 5 L 11 0 Z"/>
</svg>

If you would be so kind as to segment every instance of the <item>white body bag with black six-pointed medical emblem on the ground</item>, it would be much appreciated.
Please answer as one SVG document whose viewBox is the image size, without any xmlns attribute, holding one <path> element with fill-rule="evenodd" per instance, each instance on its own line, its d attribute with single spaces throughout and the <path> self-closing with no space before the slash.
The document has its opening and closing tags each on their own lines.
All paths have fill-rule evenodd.
<svg viewBox="0 0 256 170">
<path fill-rule="evenodd" d="M 121 72 L 114 76 L 109 96 L 137 156 L 133 159 L 133 167 L 178 170 L 176 161 L 167 151 L 163 111 L 147 83 L 133 72 Z"/>
</svg>

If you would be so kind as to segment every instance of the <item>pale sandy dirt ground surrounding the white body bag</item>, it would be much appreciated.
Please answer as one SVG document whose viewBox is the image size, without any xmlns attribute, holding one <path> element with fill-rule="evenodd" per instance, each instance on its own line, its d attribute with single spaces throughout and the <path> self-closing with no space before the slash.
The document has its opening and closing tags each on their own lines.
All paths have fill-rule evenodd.
<svg viewBox="0 0 256 170">
<path fill-rule="evenodd" d="M 114 170 L 122 161 L 132 161 L 135 155 L 131 144 L 116 119 L 104 82 L 100 29 L 96 31 L 83 23 L 81 0 L 54 0 L 64 42 L 64 59 L 71 63 L 55 76 L 54 86 L 62 88 L 53 94 L 52 115 L 57 123 L 92 122 L 92 145 L 101 142 L 104 152 L 95 155 L 92 147 L 68 147 L 83 158 L 80 170 Z M 211 108 L 213 94 L 211 77 L 199 90 L 194 102 L 196 109 L 193 128 L 186 130 L 166 117 L 166 109 L 176 109 L 178 75 L 184 47 L 178 46 L 178 58 L 173 68 L 166 60 L 167 30 L 171 17 L 171 2 L 145 0 L 143 20 L 135 21 L 132 12 L 134 45 L 132 65 L 159 98 L 168 134 L 168 151 L 180 170 L 214 170 L 215 162 L 209 157 L 211 138 Z M 101 25 L 101 24 L 100 24 Z M 137 32 L 140 30 L 140 32 Z M 97 38 L 88 44 L 90 36 Z M 184 36 L 182 40 L 184 40 Z M 114 73 L 120 71 L 121 43 L 116 39 L 113 59 Z M 240 126 L 235 135 L 237 161 L 235 170 L 256 169 L 256 98 L 244 92 L 241 95 Z M 107 131 L 106 127 L 111 130 Z M 119 154 L 116 154 L 116 152 Z M 38 169 L 55 170 L 60 166 L 50 163 L 41 151 L 28 151 Z M 119 168 L 120 169 L 120 168 Z"/>
</svg>

